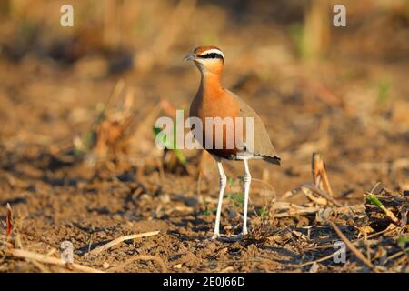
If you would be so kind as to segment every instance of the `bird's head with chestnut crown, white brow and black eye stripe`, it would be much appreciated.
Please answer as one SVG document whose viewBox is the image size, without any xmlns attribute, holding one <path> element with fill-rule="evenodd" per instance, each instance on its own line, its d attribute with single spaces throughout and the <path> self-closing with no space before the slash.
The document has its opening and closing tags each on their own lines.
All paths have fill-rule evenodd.
<svg viewBox="0 0 409 291">
<path fill-rule="evenodd" d="M 216 46 L 196 47 L 192 54 L 186 55 L 185 61 L 194 61 L 202 74 L 208 72 L 220 74 L 223 70 L 224 55 Z"/>
</svg>

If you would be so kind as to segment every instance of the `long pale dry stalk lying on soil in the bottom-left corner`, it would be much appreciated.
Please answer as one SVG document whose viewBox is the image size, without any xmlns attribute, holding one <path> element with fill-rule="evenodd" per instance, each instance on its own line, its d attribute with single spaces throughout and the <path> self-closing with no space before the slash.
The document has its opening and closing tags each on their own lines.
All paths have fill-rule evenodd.
<svg viewBox="0 0 409 291">
<path fill-rule="evenodd" d="M 9 254 L 11 256 L 15 256 L 15 257 L 20 257 L 20 258 L 25 258 L 25 259 L 29 259 L 29 260 L 35 260 L 41 263 L 45 263 L 45 264 L 51 264 L 51 265 L 56 265 L 56 266 L 67 266 L 66 263 L 64 261 L 62 261 L 59 258 L 56 257 L 52 257 L 52 256 L 46 256 L 46 255 L 42 255 L 42 254 L 37 254 L 34 252 L 29 252 L 29 251 L 25 251 L 22 249 L 9 249 L 9 250 L 5 250 L 6 254 Z M 81 272 L 86 272 L 86 273 L 104 273 L 103 271 L 100 271 L 98 269 L 95 269 L 93 267 L 89 267 L 89 266 L 82 266 L 82 265 L 78 265 L 78 264 L 70 264 L 70 266 L 73 267 L 73 269 L 81 271 Z"/>
</svg>

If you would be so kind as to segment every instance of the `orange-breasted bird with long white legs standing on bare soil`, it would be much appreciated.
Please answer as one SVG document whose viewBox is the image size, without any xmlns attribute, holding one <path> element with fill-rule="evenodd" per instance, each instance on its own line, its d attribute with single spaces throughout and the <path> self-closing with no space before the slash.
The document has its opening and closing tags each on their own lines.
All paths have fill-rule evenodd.
<svg viewBox="0 0 409 291">
<path fill-rule="evenodd" d="M 220 178 L 220 191 L 214 222 L 214 235 L 212 236 L 212 239 L 221 238 L 220 218 L 224 189 L 227 184 L 227 177 L 224 173 L 223 163 L 229 160 L 244 162 L 244 220 L 242 232 L 238 235 L 238 237 L 241 238 L 248 235 L 247 207 L 252 180 L 248 161 L 260 159 L 270 164 L 281 165 L 281 158 L 275 152 L 270 136 L 268 135 L 260 116 L 257 115 L 254 109 L 250 107 L 250 105 L 247 105 L 243 99 L 223 87 L 221 80 L 224 68 L 224 54 L 222 50 L 214 45 L 198 46 L 193 53 L 185 55 L 184 60 L 193 61 L 201 76 L 199 88 L 190 106 L 189 117 L 199 118 L 202 122 L 203 128 L 201 130 L 203 131 L 204 138 L 202 138 L 201 141 L 199 140 L 199 143 L 201 143 L 202 146 L 204 146 L 204 148 L 214 157 Z M 237 119 L 237 117 L 252 118 L 253 136 L 250 136 L 253 138 L 253 145 L 246 145 L 246 142 L 247 144 L 250 143 L 248 143 L 248 141 L 244 142 L 244 133 L 242 136 L 239 136 L 237 139 L 238 142 L 236 142 L 236 136 L 229 136 L 229 133 L 230 135 L 237 135 L 235 131 L 237 126 L 236 123 L 226 124 L 223 128 L 222 136 L 215 136 L 214 131 L 208 134 L 205 130 L 205 125 L 206 118 L 209 117 L 231 117 L 234 118 L 234 120 Z M 234 128 L 228 128 L 228 126 L 233 126 Z M 247 132 L 248 130 L 249 129 L 245 127 L 244 132 Z M 222 146 L 214 146 L 214 139 L 217 137 L 222 138 Z M 213 138 L 213 143 L 210 143 L 211 146 L 205 146 L 205 143 L 209 138 Z M 234 143 L 233 146 L 230 145 L 228 147 L 227 144 L 229 138 L 233 139 Z"/>
</svg>

